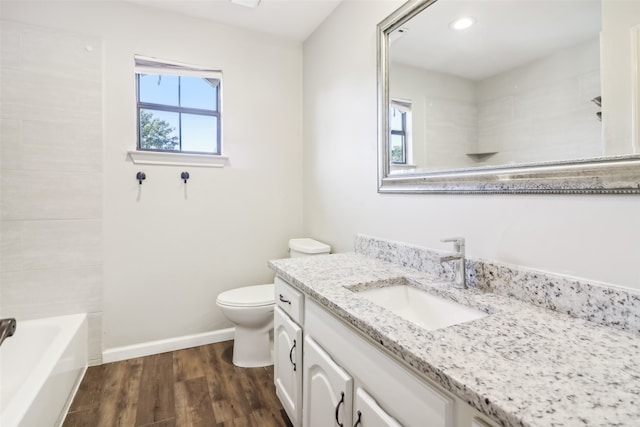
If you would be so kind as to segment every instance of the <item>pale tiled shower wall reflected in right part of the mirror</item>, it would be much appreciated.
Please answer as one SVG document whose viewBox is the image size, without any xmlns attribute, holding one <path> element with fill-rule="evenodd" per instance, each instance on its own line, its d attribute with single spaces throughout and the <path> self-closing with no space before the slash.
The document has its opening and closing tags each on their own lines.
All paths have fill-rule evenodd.
<svg viewBox="0 0 640 427">
<path fill-rule="evenodd" d="M 601 157 L 601 94 L 599 39 L 482 80 L 477 150 L 497 152 L 490 164 Z"/>
</svg>

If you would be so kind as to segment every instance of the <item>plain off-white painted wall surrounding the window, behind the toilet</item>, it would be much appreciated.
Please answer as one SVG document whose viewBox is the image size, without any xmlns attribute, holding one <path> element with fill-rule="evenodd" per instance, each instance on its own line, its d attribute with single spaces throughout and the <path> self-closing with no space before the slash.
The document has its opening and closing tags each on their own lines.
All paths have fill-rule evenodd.
<svg viewBox="0 0 640 427">
<path fill-rule="evenodd" d="M 271 282 L 267 261 L 287 256 L 287 240 L 301 235 L 301 44 L 116 2 L 2 2 L 2 15 L 103 43 L 103 347 L 230 326 L 217 294 Z M 134 54 L 223 70 L 229 167 L 127 159 Z"/>
</svg>

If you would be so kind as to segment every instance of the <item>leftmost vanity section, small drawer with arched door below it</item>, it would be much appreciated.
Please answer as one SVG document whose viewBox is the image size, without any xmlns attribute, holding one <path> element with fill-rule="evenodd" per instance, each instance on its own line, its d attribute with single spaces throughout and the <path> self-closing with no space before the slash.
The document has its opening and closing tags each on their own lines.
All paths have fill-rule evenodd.
<svg viewBox="0 0 640 427">
<path fill-rule="evenodd" d="M 302 424 L 302 323 L 304 296 L 281 279 L 275 281 L 273 378 L 276 395 L 291 423 Z"/>
</svg>

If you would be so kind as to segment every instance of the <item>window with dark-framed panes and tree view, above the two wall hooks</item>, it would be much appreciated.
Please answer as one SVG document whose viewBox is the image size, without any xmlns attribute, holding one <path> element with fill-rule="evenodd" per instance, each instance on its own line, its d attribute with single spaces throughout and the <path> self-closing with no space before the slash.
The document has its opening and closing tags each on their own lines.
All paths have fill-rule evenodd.
<svg viewBox="0 0 640 427">
<path fill-rule="evenodd" d="M 136 56 L 138 150 L 222 154 L 222 73 Z"/>
</svg>

